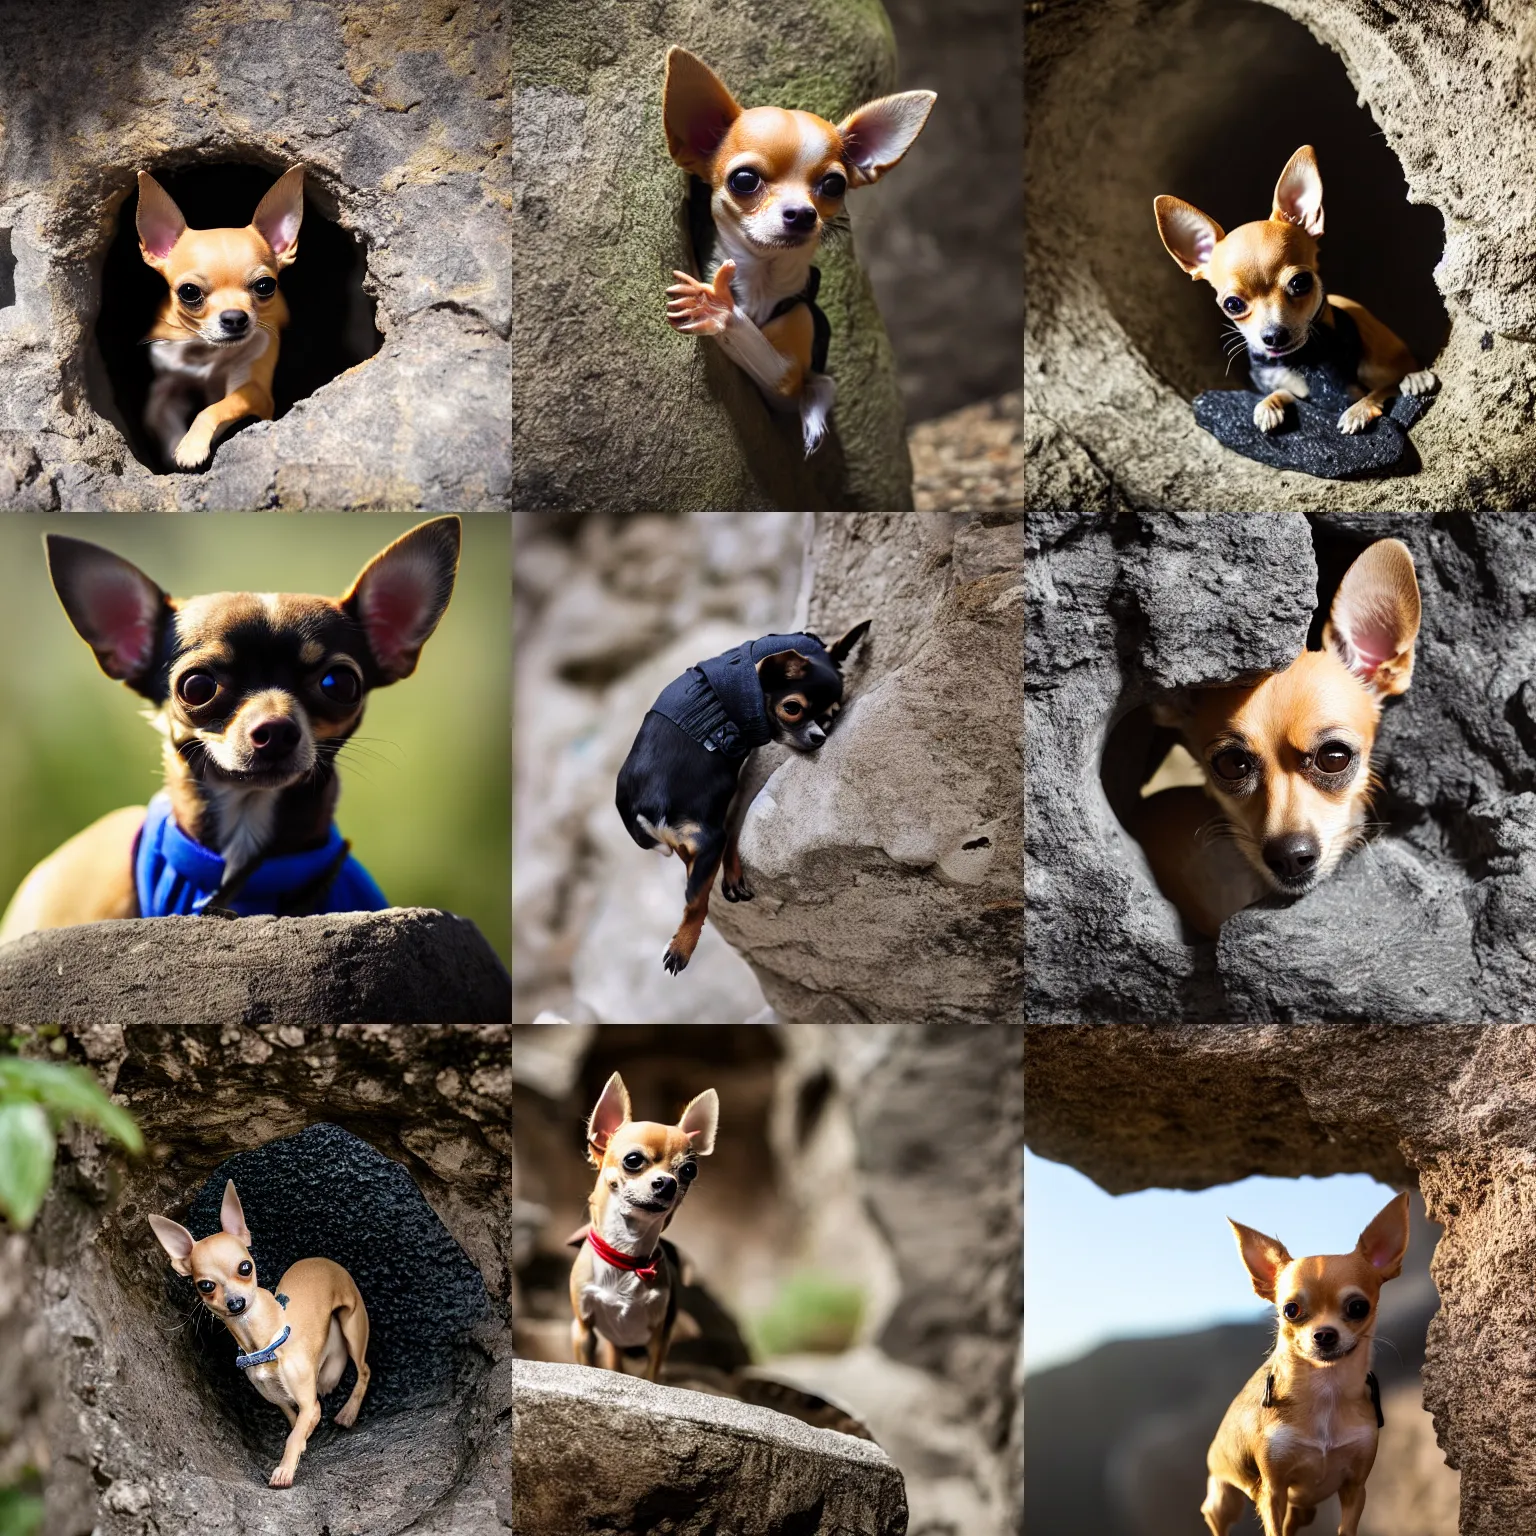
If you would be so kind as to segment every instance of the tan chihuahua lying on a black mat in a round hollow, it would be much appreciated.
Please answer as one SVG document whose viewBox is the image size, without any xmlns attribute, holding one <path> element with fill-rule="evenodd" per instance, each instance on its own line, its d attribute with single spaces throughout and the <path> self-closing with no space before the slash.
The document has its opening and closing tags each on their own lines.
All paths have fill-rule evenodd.
<svg viewBox="0 0 1536 1536">
<path fill-rule="evenodd" d="M 1240 224 L 1230 235 L 1181 198 L 1160 197 L 1152 206 L 1167 253 L 1217 290 L 1221 313 L 1247 346 L 1253 387 L 1264 395 L 1253 407 L 1260 432 L 1275 432 L 1286 407 L 1307 398 L 1298 370 L 1309 366 L 1355 401 L 1338 421 L 1346 433 L 1364 432 L 1399 390 L 1438 389 L 1435 375 L 1369 309 L 1322 292 L 1322 177 L 1310 144 L 1279 174 L 1269 218 Z"/>
</svg>

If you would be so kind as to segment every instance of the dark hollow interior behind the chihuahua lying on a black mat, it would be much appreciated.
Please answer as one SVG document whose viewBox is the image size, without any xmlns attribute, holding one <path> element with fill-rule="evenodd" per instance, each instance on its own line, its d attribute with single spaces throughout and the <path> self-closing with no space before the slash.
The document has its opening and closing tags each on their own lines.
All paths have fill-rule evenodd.
<svg viewBox="0 0 1536 1536">
<path fill-rule="evenodd" d="M 1338 54 L 1250 0 L 1197 0 L 1144 12 L 1143 23 L 1101 97 L 1094 190 L 1066 195 L 1091 224 L 1083 249 L 1115 318 L 1150 366 L 1190 399 L 1247 384 L 1241 352 L 1226 364 L 1233 333 L 1213 290 L 1163 249 L 1152 200 L 1180 197 L 1227 230 L 1267 218 L 1279 172 L 1304 143 L 1322 170 L 1326 287 L 1433 362 L 1450 329 L 1433 278 L 1444 221 L 1407 201 L 1402 167 Z"/>
</svg>

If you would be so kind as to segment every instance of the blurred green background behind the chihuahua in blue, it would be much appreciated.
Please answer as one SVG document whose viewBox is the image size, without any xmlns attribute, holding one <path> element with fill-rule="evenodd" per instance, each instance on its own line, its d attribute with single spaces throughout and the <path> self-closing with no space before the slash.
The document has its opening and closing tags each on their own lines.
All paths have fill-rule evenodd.
<svg viewBox="0 0 1536 1536">
<path fill-rule="evenodd" d="M 375 513 L 0 515 L 0 908 L 28 869 L 95 817 L 160 786 L 146 700 L 75 634 L 43 535 L 115 550 L 174 598 L 339 596 L 424 522 Z M 370 694 L 341 754 L 336 825 L 396 906 L 473 919 L 511 958 L 510 522 L 465 516 L 453 601 L 413 676 Z"/>
</svg>

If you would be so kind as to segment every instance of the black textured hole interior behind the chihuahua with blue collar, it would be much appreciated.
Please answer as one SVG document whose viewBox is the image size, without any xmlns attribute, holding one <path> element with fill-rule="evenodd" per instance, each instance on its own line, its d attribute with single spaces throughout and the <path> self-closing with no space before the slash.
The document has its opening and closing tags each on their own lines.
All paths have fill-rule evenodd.
<svg viewBox="0 0 1536 1536">
<path fill-rule="evenodd" d="M 488 1313 L 488 1298 L 479 1270 L 410 1174 L 339 1126 L 307 1126 L 223 1163 L 183 1220 L 195 1238 L 218 1230 L 224 1181 L 230 1178 L 250 1227 L 258 1284 L 276 1290 L 283 1272 L 301 1258 L 333 1260 L 356 1281 L 369 1313 L 372 1370 L 358 1424 L 447 1401 L 459 1372 L 461 1341 Z M 166 1273 L 175 1310 L 197 1318 L 180 1336 L 198 1372 L 247 1447 L 258 1459 L 275 1462 L 287 1436 L 281 1412 L 235 1369 L 233 1335 L 203 1307 L 192 1281 L 169 1269 Z M 335 1390 L 321 1399 L 323 1419 L 309 1452 L 349 1433 L 333 1421 L 355 1381 L 349 1361 Z"/>
</svg>

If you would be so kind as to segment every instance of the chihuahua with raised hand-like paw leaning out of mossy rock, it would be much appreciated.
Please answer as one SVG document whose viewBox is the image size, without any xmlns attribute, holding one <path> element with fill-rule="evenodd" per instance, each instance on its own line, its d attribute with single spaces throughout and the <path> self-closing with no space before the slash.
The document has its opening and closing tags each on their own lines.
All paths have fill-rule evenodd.
<svg viewBox="0 0 1536 1536">
<path fill-rule="evenodd" d="M 667 149 L 708 189 L 716 243 L 694 252 L 702 281 L 673 272 L 667 319 L 714 336 L 771 406 L 797 410 L 806 458 L 836 398 L 816 249 L 825 229 L 846 227 L 848 189 L 879 181 L 902 160 L 935 100 L 932 91 L 903 91 L 836 124 L 776 106 L 743 111 L 708 65 L 667 51 Z"/>
</svg>

